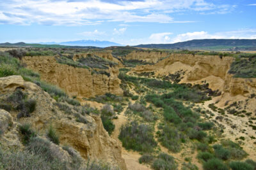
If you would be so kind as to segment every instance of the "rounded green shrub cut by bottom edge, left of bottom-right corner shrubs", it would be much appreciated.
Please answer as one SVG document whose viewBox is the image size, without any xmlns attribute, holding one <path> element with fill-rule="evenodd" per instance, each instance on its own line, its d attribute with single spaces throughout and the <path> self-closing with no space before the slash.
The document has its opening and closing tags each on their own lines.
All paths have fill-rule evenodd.
<svg viewBox="0 0 256 170">
<path fill-rule="evenodd" d="M 204 170 L 228 170 L 228 167 L 220 159 L 210 159 L 203 164 Z"/>
</svg>

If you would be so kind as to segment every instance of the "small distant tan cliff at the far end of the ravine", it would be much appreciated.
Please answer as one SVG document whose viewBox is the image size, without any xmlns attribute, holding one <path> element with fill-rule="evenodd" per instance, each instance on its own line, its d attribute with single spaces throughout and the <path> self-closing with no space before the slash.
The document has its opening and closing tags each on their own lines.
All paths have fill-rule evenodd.
<svg viewBox="0 0 256 170">
<path fill-rule="evenodd" d="M 131 53 L 125 55 L 124 59 L 126 60 L 143 60 L 146 62 L 156 63 L 159 59 L 164 59 L 168 57 L 170 53 L 167 52 L 141 52 L 141 51 L 132 51 Z"/>
</svg>

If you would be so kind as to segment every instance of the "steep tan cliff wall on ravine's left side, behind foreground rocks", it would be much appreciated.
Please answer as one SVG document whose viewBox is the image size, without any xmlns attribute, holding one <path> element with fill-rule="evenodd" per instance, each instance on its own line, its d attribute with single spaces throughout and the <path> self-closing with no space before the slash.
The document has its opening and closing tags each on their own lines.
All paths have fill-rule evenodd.
<svg viewBox="0 0 256 170">
<path fill-rule="evenodd" d="M 122 95 L 118 67 L 109 67 L 106 74 L 92 73 L 91 69 L 59 64 L 54 57 L 24 57 L 29 69 L 40 73 L 42 80 L 64 89 L 70 96 L 94 97 L 106 93 Z"/>
</svg>

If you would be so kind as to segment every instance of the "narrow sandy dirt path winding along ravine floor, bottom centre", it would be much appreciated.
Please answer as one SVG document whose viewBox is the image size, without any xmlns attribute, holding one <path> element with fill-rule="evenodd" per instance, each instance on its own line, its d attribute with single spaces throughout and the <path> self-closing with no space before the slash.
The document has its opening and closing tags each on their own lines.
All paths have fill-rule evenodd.
<svg viewBox="0 0 256 170">
<path fill-rule="evenodd" d="M 128 118 L 124 115 L 125 111 L 127 110 L 128 106 L 125 106 L 124 110 L 118 115 L 117 119 L 113 120 L 113 123 L 115 124 L 115 130 L 111 134 L 111 138 L 116 139 L 120 145 L 122 145 L 121 141 L 118 139 L 118 135 L 120 133 L 120 127 L 125 124 L 128 120 Z M 150 167 L 140 164 L 139 158 L 141 157 L 140 153 L 138 152 L 132 152 L 125 150 L 125 148 L 122 147 L 122 157 L 125 160 L 125 164 L 127 166 L 128 170 L 148 170 Z"/>
</svg>

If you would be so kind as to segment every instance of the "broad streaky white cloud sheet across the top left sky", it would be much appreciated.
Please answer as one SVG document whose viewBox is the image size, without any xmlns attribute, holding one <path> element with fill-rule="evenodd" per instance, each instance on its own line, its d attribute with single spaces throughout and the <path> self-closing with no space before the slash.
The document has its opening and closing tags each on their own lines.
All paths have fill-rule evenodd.
<svg viewBox="0 0 256 170">
<path fill-rule="evenodd" d="M 96 25 L 106 21 L 184 23 L 170 17 L 175 11 L 227 11 L 229 5 L 205 0 L 8 0 L 0 3 L 0 24 Z"/>
</svg>

